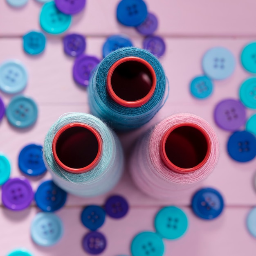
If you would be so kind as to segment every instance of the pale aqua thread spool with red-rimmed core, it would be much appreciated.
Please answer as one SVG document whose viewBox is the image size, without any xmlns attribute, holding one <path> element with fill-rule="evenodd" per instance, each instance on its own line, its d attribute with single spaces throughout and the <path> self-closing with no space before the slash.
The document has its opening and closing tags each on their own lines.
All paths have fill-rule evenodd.
<svg viewBox="0 0 256 256">
<path fill-rule="evenodd" d="M 43 157 L 54 182 L 83 197 L 110 191 L 124 166 L 115 133 L 97 117 L 85 113 L 68 113 L 56 121 L 45 137 Z"/>
</svg>

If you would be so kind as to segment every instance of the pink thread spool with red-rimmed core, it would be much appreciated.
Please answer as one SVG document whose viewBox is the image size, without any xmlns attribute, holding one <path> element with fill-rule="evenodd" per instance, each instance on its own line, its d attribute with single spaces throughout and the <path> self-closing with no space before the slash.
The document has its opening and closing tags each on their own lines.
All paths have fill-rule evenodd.
<svg viewBox="0 0 256 256">
<path fill-rule="evenodd" d="M 175 198 L 213 171 L 219 156 L 218 138 L 201 117 L 178 114 L 145 133 L 131 155 L 130 173 L 151 197 Z"/>
</svg>

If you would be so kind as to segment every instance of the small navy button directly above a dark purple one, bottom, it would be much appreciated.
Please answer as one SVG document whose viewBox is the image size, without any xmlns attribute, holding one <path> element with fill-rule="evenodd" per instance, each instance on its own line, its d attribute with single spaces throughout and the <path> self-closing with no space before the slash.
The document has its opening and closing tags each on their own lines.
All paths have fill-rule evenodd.
<svg viewBox="0 0 256 256">
<path fill-rule="evenodd" d="M 101 227 L 105 221 L 106 212 L 97 205 L 90 205 L 83 209 L 81 221 L 85 227 L 95 231 Z"/>
</svg>

